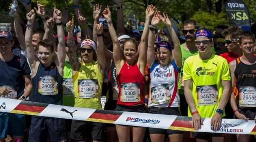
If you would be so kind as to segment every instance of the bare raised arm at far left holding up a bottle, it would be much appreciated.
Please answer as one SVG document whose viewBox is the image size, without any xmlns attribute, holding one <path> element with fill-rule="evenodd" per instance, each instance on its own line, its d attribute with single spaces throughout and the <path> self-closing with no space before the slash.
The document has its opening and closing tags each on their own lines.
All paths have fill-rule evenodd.
<svg viewBox="0 0 256 142">
<path fill-rule="evenodd" d="M 11 9 L 12 4 L 10 4 L 9 9 Z M 23 34 L 22 27 L 20 25 L 20 16 L 19 16 L 19 6 L 16 7 L 16 15 L 13 18 L 14 20 L 14 30 L 16 33 L 16 37 L 20 43 L 20 48 L 24 52 L 26 49 L 26 44 L 25 44 L 25 36 Z"/>
</svg>

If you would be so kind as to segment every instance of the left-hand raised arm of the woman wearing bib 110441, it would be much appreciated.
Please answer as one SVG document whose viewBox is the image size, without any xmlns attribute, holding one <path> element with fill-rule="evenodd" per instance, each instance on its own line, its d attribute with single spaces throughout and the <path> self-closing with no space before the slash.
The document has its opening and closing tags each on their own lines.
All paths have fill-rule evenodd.
<svg viewBox="0 0 256 142">
<path fill-rule="evenodd" d="M 160 20 L 161 20 L 160 11 L 158 11 L 157 13 L 154 14 L 154 17 L 151 20 L 151 25 L 156 27 L 159 24 Z M 148 35 L 148 51 L 147 51 L 148 68 L 151 68 L 151 66 L 155 61 L 154 41 L 155 41 L 155 30 L 150 30 Z"/>
</svg>

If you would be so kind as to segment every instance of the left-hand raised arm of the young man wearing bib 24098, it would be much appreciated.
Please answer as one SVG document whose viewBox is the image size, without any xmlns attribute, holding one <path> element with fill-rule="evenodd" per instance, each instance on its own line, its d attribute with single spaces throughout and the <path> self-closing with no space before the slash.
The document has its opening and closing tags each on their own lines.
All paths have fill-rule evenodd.
<svg viewBox="0 0 256 142">
<path fill-rule="evenodd" d="M 27 50 L 27 56 L 29 59 L 29 64 L 30 67 L 32 68 L 32 74 L 33 74 L 33 69 L 35 68 L 35 64 L 39 59 L 35 55 L 35 49 L 32 45 L 32 28 L 33 28 L 33 23 L 35 19 L 35 13 L 34 10 L 31 10 L 28 14 L 26 14 L 26 18 L 28 20 L 27 22 L 27 28 L 26 28 L 26 33 L 25 33 L 25 43 L 26 43 L 26 50 Z"/>
</svg>

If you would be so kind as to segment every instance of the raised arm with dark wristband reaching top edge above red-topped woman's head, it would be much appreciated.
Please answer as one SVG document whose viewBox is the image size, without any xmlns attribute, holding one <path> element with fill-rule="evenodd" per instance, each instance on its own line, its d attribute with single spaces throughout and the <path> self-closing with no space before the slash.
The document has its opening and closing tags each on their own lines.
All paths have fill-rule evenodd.
<svg viewBox="0 0 256 142">
<path fill-rule="evenodd" d="M 121 0 L 113 0 L 114 3 L 116 3 L 117 8 L 117 30 L 116 34 L 119 35 L 120 33 L 125 33 L 125 20 L 124 20 L 124 14 L 122 10 L 122 2 Z"/>
</svg>

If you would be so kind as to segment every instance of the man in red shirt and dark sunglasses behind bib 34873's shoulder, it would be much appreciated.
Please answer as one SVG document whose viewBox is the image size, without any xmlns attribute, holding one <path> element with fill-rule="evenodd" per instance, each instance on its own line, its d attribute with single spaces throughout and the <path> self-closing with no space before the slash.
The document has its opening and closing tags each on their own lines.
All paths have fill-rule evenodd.
<svg viewBox="0 0 256 142">
<path fill-rule="evenodd" d="M 227 60 L 227 63 L 235 60 L 243 55 L 241 48 L 239 47 L 238 37 L 243 32 L 241 28 L 229 27 L 222 32 L 225 36 L 225 47 L 227 48 L 227 53 L 223 53 L 220 56 Z"/>
</svg>

